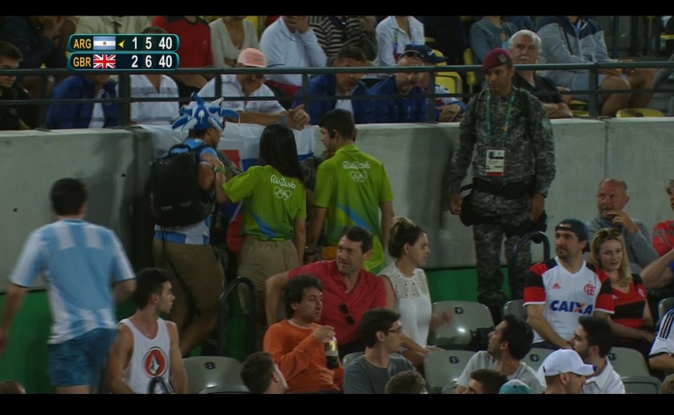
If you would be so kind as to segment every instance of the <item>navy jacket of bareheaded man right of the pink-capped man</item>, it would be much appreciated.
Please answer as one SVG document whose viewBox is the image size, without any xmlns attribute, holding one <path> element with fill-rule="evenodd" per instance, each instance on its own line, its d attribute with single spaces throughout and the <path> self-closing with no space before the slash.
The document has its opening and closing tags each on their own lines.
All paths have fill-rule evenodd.
<svg viewBox="0 0 674 415">
<path fill-rule="evenodd" d="M 335 81 L 335 74 L 321 74 L 312 77 L 309 80 L 309 95 L 322 97 L 339 95 Z M 353 95 L 369 95 L 367 86 L 363 82 L 359 82 L 353 91 Z M 301 89 L 297 91 L 295 97 L 293 108 L 302 103 Z M 308 101 L 304 109 L 309 114 L 309 117 L 311 117 L 310 124 L 318 125 L 324 114 L 329 110 L 334 110 L 336 105 L 336 99 Z M 351 100 L 351 106 L 353 107 L 353 118 L 356 124 L 371 124 L 374 122 L 374 111 L 372 110 L 371 100 Z"/>
</svg>

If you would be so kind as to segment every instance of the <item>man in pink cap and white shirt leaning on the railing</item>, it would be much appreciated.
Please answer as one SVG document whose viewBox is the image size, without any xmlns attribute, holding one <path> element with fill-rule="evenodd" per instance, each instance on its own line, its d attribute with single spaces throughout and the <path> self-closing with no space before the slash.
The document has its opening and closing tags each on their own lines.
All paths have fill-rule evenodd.
<svg viewBox="0 0 674 415">
<path fill-rule="evenodd" d="M 239 53 L 236 67 L 267 67 L 264 53 L 255 48 L 247 48 Z M 199 91 L 203 97 L 272 97 L 274 93 L 264 84 L 263 74 L 220 75 L 222 86 L 216 91 L 216 80 L 211 79 Z M 275 100 L 223 101 L 220 104 L 239 113 L 240 122 L 268 126 L 276 122 L 287 124 L 291 129 L 301 130 L 309 122 L 309 114 L 303 105 L 292 110 L 284 110 Z"/>
</svg>

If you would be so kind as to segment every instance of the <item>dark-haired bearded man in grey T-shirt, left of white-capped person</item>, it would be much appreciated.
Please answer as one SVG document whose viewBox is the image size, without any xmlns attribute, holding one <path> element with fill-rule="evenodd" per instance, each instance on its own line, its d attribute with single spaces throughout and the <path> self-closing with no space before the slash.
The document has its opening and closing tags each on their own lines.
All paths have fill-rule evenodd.
<svg viewBox="0 0 674 415">
<path fill-rule="evenodd" d="M 543 392 L 544 383 L 538 381 L 534 369 L 522 362 L 533 341 L 534 332 L 527 322 L 512 314 L 503 316 L 503 321 L 489 333 L 487 350 L 480 350 L 468 360 L 456 381 L 456 393 L 464 393 L 470 387 L 471 374 L 478 369 L 497 370 L 508 380 L 519 379 L 526 383 L 533 393 Z M 445 386 L 445 390 L 452 386 Z"/>
</svg>

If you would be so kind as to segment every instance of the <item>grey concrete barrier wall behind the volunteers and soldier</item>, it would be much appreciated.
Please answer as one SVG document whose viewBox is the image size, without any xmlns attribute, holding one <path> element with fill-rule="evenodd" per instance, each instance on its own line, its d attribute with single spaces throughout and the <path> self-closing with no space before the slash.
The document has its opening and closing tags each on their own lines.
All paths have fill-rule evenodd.
<svg viewBox="0 0 674 415">
<path fill-rule="evenodd" d="M 315 128 L 315 127 L 312 127 Z M 430 237 L 429 268 L 475 265 L 472 228 L 447 211 L 446 171 L 458 143 L 458 124 L 359 126 L 357 145 L 388 170 L 396 215 L 415 220 Z M 626 210 L 649 228 L 672 217 L 663 190 L 674 158 L 674 119 L 553 120 L 557 177 L 546 202 L 548 237 L 564 217 L 595 215 L 597 183 L 604 176 L 627 180 Z M 315 128 L 316 151 L 324 148 Z M 141 129 L 86 129 L 0 133 L 0 272 L 8 276 L 29 232 L 54 217 L 48 191 L 54 180 L 83 178 L 90 190 L 87 219 L 119 235 L 139 268 L 149 246 L 140 236 L 149 225 L 143 187 L 152 139 Z M 470 181 L 470 172 L 465 183 Z M 147 232 L 145 232 L 147 233 Z M 534 258 L 542 258 L 541 249 Z M 151 259 L 151 258 L 150 258 Z M 0 279 L 0 290 L 6 288 Z"/>
</svg>

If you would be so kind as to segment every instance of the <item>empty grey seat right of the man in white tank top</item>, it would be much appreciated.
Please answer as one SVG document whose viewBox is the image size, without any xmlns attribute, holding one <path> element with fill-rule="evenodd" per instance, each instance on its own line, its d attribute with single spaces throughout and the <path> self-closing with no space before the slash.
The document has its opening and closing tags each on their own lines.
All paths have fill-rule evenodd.
<svg viewBox="0 0 674 415">
<path fill-rule="evenodd" d="M 215 386 L 245 387 L 241 378 L 242 364 L 234 357 L 185 357 L 183 364 L 187 371 L 187 393 L 201 393 L 202 390 Z"/>
</svg>

